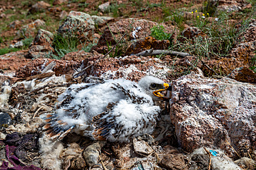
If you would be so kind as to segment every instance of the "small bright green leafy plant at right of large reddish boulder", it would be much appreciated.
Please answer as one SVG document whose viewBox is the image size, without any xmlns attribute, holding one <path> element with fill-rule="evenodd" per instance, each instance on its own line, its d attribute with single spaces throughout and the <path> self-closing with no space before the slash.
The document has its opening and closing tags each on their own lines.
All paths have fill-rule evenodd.
<svg viewBox="0 0 256 170">
<path fill-rule="evenodd" d="M 153 28 L 151 28 L 150 35 L 158 40 L 170 40 L 171 38 L 171 34 L 165 31 L 163 25 L 156 25 Z"/>
</svg>

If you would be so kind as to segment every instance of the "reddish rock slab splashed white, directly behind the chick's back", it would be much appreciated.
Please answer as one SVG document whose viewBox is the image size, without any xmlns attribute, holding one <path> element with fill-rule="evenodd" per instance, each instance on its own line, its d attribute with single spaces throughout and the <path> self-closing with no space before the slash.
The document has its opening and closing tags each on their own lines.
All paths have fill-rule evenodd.
<svg viewBox="0 0 256 170">
<path fill-rule="evenodd" d="M 93 56 L 84 59 L 83 67 L 88 67 L 96 61 L 99 56 Z M 169 62 L 161 61 L 157 58 L 127 56 L 124 58 L 104 58 L 101 61 L 94 63 L 82 73 L 84 76 L 100 76 L 101 78 L 126 78 L 131 81 L 138 81 L 146 74 L 157 76 L 162 79 L 168 77 L 168 72 L 171 72 L 167 67 Z"/>
</svg>

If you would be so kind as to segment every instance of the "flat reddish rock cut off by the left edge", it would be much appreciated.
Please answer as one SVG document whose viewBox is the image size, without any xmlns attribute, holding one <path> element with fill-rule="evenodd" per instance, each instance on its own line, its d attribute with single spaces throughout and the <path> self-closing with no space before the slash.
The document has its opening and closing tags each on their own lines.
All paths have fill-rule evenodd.
<svg viewBox="0 0 256 170">
<path fill-rule="evenodd" d="M 31 61 L 30 59 L 25 58 L 27 53 L 28 50 L 21 50 L 1 55 L 0 70 L 4 70 L 4 72 L 15 72 L 19 67 L 22 67 Z"/>
</svg>

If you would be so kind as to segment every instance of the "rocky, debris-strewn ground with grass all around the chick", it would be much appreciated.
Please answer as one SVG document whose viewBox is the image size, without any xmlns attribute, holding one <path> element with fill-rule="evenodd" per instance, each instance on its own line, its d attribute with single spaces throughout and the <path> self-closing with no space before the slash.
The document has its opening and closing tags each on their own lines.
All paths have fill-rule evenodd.
<svg viewBox="0 0 256 170">
<path fill-rule="evenodd" d="M 0 1 L 0 169 L 255 169 L 255 16 L 244 0 Z M 44 136 L 68 86 L 147 74 L 172 85 L 153 134 Z"/>
</svg>

